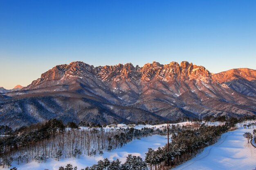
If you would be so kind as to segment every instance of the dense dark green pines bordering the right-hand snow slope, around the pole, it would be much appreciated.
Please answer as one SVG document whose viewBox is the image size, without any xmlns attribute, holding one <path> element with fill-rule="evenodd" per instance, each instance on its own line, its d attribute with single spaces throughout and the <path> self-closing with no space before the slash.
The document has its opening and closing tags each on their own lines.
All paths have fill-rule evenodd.
<svg viewBox="0 0 256 170">
<path fill-rule="evenodd" d="M 168 170 L 191 159 L 204 147 L 214 144 L 222 133 L 236 128 L 236 120 L 230 120 L 223 126 L 172 126 L 171 142 L 163 148 L 148 149 L 145 161 L 150 170 Z"/>
</svg>

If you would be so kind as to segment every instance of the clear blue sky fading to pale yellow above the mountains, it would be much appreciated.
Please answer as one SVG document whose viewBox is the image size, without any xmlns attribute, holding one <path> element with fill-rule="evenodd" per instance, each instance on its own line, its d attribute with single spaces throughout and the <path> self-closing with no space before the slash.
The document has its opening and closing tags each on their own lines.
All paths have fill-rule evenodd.
<svg viewBox="0 0 256 170">
<path fill-rule="evenodd" d="M 0 86 L 72 61 L 256 69 L 256 0 L 0 0 Z"/>
</svg>

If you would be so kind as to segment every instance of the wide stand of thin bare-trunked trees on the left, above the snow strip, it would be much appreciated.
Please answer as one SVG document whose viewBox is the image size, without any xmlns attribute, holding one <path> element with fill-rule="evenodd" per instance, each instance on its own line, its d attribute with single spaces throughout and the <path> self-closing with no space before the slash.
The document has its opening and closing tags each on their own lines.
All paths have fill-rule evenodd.
<svg viewBox="0 0 256 170">
<path fill-rule="evenodd" d="M 154 128 L 79 129 L 74 123 L 65 127 L 62 121 L 51 119 L 45 124 L 20 128 L 1 137 L 0 165 L 9 167 L 13 161 L 28 163 L 30 159 L 42 163 L 49 158 L 80 158 L 82 154 L 92 157 L 122 147 L 133 139 L 165 132 Z"/>
</svg>

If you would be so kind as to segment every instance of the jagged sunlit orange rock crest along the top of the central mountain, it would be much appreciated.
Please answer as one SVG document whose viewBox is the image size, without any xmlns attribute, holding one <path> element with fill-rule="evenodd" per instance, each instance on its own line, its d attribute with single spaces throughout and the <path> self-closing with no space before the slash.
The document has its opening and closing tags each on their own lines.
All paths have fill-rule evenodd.
<svg viewBox="0 0 256 170">
<path fill-rule="evenodd" d="M 173 79 L 186 80 L 200 79 L 202 77 L 210 79 L 211 74 L 203 66 L 193 65 L 186 61 L 183 61 L 180 64 L 177 62 L 170 62 L 165 65 L 154 61 L 152 63 L 146 63 L 142 67 L 134 67 L 131 63 L 94 67 L 84 62 L 71 62 L 70 64 L 62 64 L 53 67 L 49 71 L 43 73 L 40 79 L 32 82 L 29 87 L 47 81 L 62 81 L 63 83 L 65 82 L 65 84 L 72 84 L 76 79 L 85 78 L 96 78 L 97 81 L 102 80 L 103 82 L 118 82 L 125 79 L 129 81 L 161 79 L 168 82 Z M 69 81 L 69 83 L 67 81 Z M 138 82 L 136 82 L 136 84 L 137 83 Z M 62 83 L 55 82 L 54 84 Z"/>
</svg>

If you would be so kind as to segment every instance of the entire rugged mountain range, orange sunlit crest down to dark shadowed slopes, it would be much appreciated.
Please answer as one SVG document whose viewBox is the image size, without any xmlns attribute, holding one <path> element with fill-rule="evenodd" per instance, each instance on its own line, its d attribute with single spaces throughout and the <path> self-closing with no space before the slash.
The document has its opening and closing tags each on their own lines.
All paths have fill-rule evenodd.
<svg viewBox="0 0 256 170">
<path fill-rule="evenodd" d="M 96 124 L 155 123 L 198 114 L 240 117 L 256 114 L 256 71 L 239 68 L 211 74 L 189 62 L 142 67 L 72 62 L 4 95 L 9 97 L 2 100 L 0 124 L 7 125 L 54 117 Z"/>
</svg>

